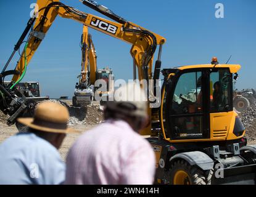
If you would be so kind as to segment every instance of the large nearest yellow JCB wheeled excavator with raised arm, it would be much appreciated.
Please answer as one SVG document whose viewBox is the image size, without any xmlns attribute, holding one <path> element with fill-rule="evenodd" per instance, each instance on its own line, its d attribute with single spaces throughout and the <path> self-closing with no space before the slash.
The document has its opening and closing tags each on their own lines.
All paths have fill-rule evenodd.
<svg viewBox="0 0 256 197">
<path fill-rule="evenodd" d="M 168 66 L 161 71 L 160 57 L 165 38 L 128 22 L 97 2 L 81 2 L 115 22 L 78 11 L 59 1 L 39 0 L 39 17 L 30 18 L 1 73 L 1 78 L 14 74 L 12 84 L 0 85 L 0 108 L 10 115 L 7 123 L 15 123 L 25 110 L 30 110 L 29 103 L 15 90 L 14 84 L 22 76 L 52 22 L 60 15 L 132 44 L 130 53 L 138 68 L 139 80 L 157 80 L 162 73 L 160 107 L 149 109 L 151 124 L 141 131 L 141 135 L 158 134 L 157 137 L 146 137 L 156 157 L 155 183 L 255 184 L 256 145 L 247 145 L 246 131 L 232 102 L 233 78 L 237 79 L 241 66 L 221 64 L 213 58 L 211 63 Z M 10 59 L 29 32 L 16 69 L 6 71 Z M 159 55 L 152 73 L 158 45 Z"/>
</svg>

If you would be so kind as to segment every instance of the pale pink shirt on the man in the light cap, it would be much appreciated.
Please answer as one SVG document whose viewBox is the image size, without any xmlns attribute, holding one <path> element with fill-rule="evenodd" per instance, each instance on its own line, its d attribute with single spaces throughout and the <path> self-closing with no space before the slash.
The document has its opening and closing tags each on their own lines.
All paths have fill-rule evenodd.
<svg viewBox="0 0 256 197">
<path fill-rule="evenodd" d="M 151 145 L 125 121 L 106 121 L 85 132 L 67 156 L 66 184 L 152 184 Z"/>
</svg>

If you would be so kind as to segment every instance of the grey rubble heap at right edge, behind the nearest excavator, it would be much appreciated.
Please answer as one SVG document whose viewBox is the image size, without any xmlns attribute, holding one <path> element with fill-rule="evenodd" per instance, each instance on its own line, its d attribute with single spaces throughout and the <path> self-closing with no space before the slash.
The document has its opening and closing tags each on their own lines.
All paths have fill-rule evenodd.
<svg viewBox="0 0 256 197">
<path fill-rule="evenodd" d="M 246 127 L 246 137 L 249 141 L 256 140 L 256 103 L 251 105 L 240 115 L 241 121 Z"/>
</svg>

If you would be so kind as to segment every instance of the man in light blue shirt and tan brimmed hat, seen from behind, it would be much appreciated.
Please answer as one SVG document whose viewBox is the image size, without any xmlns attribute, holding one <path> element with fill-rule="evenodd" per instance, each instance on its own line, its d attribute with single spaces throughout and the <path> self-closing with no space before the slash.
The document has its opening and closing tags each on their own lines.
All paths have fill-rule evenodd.
<svg viewBox="0 0 256 197">
<path fill-rule="evenodd" d="M 65 164 L 57 149 L 65 135 L 69 114 L 64 106 L 44 102 L 35 118 L 19 118 L 28 132 L 16 134 L 0 145 L 0 184 L 61 184 Z"/>
</svg>

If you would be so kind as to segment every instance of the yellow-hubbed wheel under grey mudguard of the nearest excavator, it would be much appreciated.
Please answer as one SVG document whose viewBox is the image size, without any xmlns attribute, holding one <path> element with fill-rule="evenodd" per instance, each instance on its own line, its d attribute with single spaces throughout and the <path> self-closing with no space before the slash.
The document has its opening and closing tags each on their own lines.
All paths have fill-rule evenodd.
<svg viewBox="0 0 256 197">
<path fill-rule="evenodd" d="M 168 174 L 171 185 L 210 185 L 213 171 L 202 171 L 181 159 L 171 165 Z"/>
</svg>

